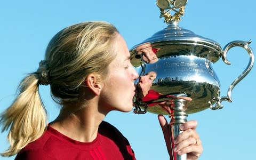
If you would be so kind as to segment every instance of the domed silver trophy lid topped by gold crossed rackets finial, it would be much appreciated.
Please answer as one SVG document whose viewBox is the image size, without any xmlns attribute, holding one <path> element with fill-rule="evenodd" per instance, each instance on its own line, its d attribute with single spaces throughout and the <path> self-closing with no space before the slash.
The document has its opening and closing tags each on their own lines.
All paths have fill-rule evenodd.
<svg viewBox="0 0 256 160">
<path fill-rule="evenodd" d="M 163 3 L 163 2 L 164 3 Z M 153 36 L 149 37 L 142 43 L 135 45 L 131 49 L 131 54 L 136 54 L 139 49 L 143 49 L 143 45 L 150 44 L 151 47 L 161 48 L 162 54 L 170 55 L 196 55 L 209 59 L 211 62 L 216 62 L 221 57 L 221 46 L 212 39 L 205 38 L 193 33 L 188 29 L 179 27 L 180 16 L 184 14 L 184 9 L 187 1 L 170 1 L 170 0 L 158 0 L 157 6 L 161 10 L 160 18 L 164 17 L 167 27 L 157 31 Z M 162 2 L 162 3 L 161 3 Z M 175 5 L 175 2 L 177 3 Z M 167 3 L 172 3 L 172 7 Z M 179 11 L 176 11 L 179 7 Z M 167 11 L 165 11 L 167 9 Z M 174 11 L 175 14 L 171 15 L 170 11 Z M 148 47 L 148 45 L 145 45 Z M 158 54 L 161 54 L 158 52 Z"/>
</svg>

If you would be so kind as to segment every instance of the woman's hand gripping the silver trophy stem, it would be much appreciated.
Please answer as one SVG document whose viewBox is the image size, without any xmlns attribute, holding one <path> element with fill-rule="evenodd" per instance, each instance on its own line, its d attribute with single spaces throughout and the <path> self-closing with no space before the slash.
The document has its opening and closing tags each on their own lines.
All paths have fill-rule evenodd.
<svg viewBox="0 0 256 160">
<path fill-rule="evenodd" d="M 158 115 L 159 123 L 162 127 L 166 147 L 171 156 L 171 143 L 170 143 L 170 127 L 163 115 Z M 174 151 L 179 155 L 187 154 L 187 159 L 194 160 L 203 152 L 202 142 L 196 132 L 196 121 L 188 121 L 180 125 L 180 130 L 183 131 L 174 139 Z"/>
</svg>

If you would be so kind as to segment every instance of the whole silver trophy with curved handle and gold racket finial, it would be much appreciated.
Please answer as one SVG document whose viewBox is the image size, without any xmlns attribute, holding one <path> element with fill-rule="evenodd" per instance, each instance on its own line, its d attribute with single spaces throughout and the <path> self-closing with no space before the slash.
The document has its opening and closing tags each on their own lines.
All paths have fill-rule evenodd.
<svg viewBox="0 0 256 160">
<path fill-rule="evenodd" d="M 206 108 L 221 109 L 222 101 L 231 102 L 231 91 L 251 70 L 254 56 L 249 42 L 233 41 L 223 49 L 208 38 L 179 27 L 184 15 L 186 0 L 157 0 L 167 27 L 142 43 L 135 45 L 131 62 L 140 74 L 137 94 L 134 97 L 134 113 L 171 117 L 173 137 L 180 134 L 179 125 L 187 121 L 187 114 Z M 250 57 L 243 73 L 229 86 L 227 95 L 220 96 L 220 81 L 212 64 L 220 57 L 229 65 L 227 52 L 234 46 L 243 47 Z M 146 85 L 146 81 L 150 85 Z M 186 159 L 186 155 L 173 153 L 173 159 Z"/>
</svg>

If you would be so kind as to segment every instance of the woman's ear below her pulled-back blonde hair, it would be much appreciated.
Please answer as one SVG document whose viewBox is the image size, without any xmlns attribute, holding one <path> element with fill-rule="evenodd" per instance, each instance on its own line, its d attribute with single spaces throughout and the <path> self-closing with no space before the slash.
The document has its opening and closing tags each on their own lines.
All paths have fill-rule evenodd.
<svg viewBox="0 0 256 160">
<path fill-rule="evenodd" d="M 85 85 L 96 95 L 100 95 L 102 84 L 94 74 L 89 74 L 84 81 Z"/>
</svg>

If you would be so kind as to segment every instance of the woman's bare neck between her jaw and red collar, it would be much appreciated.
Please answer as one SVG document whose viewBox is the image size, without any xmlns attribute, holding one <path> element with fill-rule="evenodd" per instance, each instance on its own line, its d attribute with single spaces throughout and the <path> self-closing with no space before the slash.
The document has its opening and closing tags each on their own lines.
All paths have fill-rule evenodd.
<svg viewBox="0 0 256 160">
<path fill-rule="evenodd" d="M 76 108 L 76 106 L 63 107 L 51 126 L 77 141 L 91 142 L 97 138 L 99 125 L 106 114 L 100 113 L 97 106 L 90 104 L 76 111 L 70 111 L 69 108 Z"/>
</svg>

